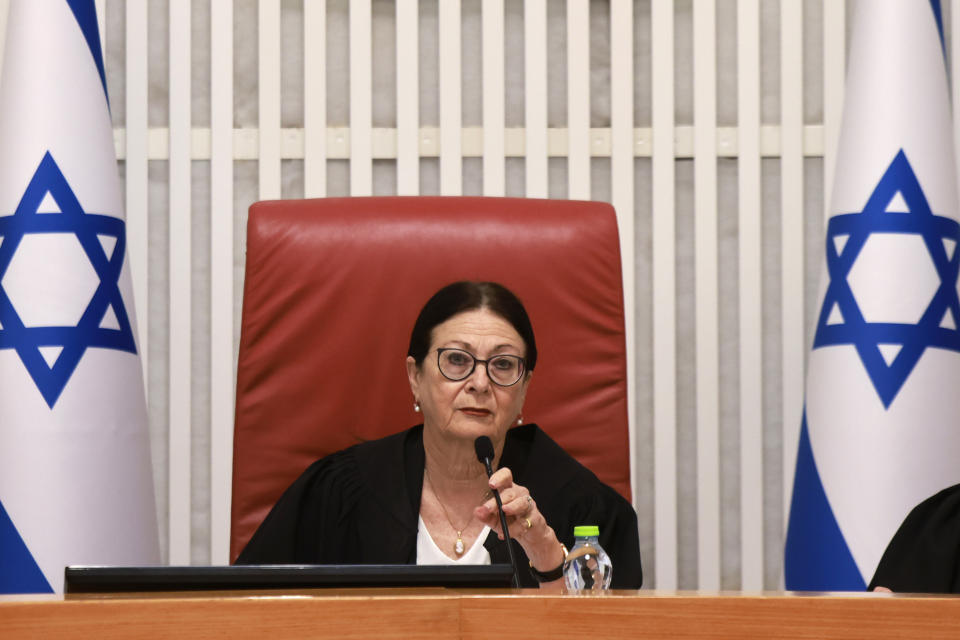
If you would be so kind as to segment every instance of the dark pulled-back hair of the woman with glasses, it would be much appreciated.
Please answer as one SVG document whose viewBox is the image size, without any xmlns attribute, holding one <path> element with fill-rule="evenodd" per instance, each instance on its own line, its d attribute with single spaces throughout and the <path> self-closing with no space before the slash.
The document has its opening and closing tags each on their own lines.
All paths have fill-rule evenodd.
<svg viewBox="0 0 960 640">
<path fill-rule="evenodd" d="M 509 322 L 527 348 L 524 360 L 526 370 L 533 371 L 537 364 L 537 341 L 533 337 L 533 326 L 523 303 L 512 291 L 496 282 L 474 282 L 461 280 L 448 284 L 437 291 L 427 304 L 423 305 L 410 334 L 410 348 L 407 355 L 417 366 L 423 365 L 423 359 L 430 351 L 430 340 L 434 327 L 465 311 L 487 309 Z"/>
</svg>

